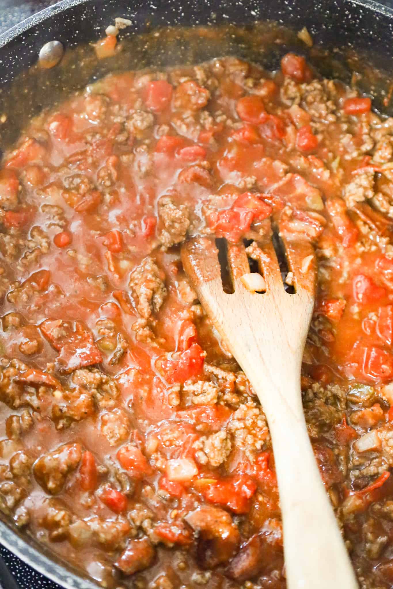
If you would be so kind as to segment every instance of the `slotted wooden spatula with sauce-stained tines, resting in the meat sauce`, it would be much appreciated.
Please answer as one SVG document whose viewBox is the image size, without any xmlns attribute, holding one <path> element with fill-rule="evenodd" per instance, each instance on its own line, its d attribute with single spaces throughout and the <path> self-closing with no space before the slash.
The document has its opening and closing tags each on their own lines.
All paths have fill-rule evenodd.
<svg viewBox="0 0 393 589">
<path fill-rule="evenodd" d="M 249 378 L 269 423 L 288 589 L 354 589 L 358 584 L 316 465 L 300 393 L 300 366 L 315 299 L 315 256 L 306 241 L 284 244 L 294 294 L 285 291 L 270 240 L 253 254 L 259 258 L 265 284 L 259 274 L 259 279 L 250 274 L 245 247 L 228 245 L 233 294 L 223 290 L 214 239 L 186 242 L 181 260 L 207 315 Z M 250 292 L 254 280 L 265 287 L 265 293 Z"/>
</svg>

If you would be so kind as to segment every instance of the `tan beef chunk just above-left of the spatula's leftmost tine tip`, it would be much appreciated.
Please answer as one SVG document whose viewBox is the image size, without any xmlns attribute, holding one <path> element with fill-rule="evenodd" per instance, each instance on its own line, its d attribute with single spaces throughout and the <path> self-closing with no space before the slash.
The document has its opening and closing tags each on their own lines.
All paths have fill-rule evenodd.
<svg viewBox="0 0 393 589">
<path fill-rule="evenodd" d="M 177 206 L 172 198 L 164 196 L 158 201 L 158 216 L 163 224 L 158 239 L 164 248 L 184 241 L 190 226 L 189 211 L 184 204 Z"/>
</svg>

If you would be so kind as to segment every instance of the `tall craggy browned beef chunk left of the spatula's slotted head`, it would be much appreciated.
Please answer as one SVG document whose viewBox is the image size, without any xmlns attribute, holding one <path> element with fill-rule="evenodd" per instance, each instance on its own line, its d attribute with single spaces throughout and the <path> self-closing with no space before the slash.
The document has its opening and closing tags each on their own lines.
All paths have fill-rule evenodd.
<svg viewBox="0 0 393 589">
<path fill-rule="evenodd" d="M 144 319 L 157 313 L 167 294 L 164 284 L 165 274 L 151 257 L 143 260 L 130 276 L 131 296 L 134 305 Z"/>
</svg>

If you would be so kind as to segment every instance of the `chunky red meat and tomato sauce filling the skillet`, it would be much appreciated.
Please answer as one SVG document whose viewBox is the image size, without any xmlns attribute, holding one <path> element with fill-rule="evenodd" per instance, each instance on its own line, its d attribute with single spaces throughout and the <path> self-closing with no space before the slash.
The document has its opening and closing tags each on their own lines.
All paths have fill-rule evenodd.
<svg viewBox="0 0 393 589">
<path fill-rule="evenodd" d="M 110 75 L 5 155 L 0 207 L 4 514 L 103 587 L 285 589 L 263 408 L 179 255 L 257 259 L 273 220 L 318 256 L 326 492 L 361 587 L 393 587 L 393 119 L 293 54 Z"/>
</svg>

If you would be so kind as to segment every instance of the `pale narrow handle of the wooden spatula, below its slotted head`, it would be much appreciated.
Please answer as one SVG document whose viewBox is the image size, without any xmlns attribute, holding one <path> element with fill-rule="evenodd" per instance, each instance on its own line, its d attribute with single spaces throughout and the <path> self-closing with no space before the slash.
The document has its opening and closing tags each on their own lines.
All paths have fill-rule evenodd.
<svg viewBox="0 0 393 589">
<path fill-rule="evenodd" d="M 266 394 L 263 397 L 280 492 L 288 589 L 356 589 L 354 570 L 307 433 L 300 386 L 288 394 L 296 378 L 284 384 L 285 391 L 269 392 L 271 398 L 292 399 L 280 404 L 279 413 L 274 401 L 269 406 Z"/>
</svg>

